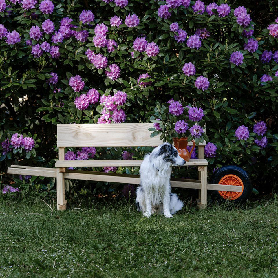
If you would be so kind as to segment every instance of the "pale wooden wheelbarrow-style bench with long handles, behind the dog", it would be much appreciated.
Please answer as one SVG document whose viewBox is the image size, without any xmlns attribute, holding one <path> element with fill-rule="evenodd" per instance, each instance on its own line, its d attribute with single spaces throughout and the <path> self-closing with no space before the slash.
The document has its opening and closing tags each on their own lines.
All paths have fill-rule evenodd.
<svg viewBox="0 0 278 278">
<path fill-rule="evenodd" d="M 122 124 L 58 124 L 57 147 L 59 148 L 56 169 L 12 165 L 8 173 L 54 177 L 57 179 L 57 209 L 65 210 L 65 179 L 94 180 L 102 182 L 120 182 L 140 184 L 138 175 L 103 173 L 96 171 L 67 170 L 66 167 L 105 167 L 140 166 L 143 160 L 65 160 L 65 147 L 138 147 L 158 146 L 162 144 L 159 136 L 150 137 L 152 123 Z M 192 145 L 192 142 L 189 142 Z M 207 184 L 208 162 L 204 159 L 206 142 L 198 145 L 199 159 L 191 159 L 184 167 L 198 167 L 199 179 L 172 179 L 173 187 L 198 189 L 198 206 L 203 208 L 207 202 L 207 190 L 241 192 L 241 186 Z"/>
</svg>

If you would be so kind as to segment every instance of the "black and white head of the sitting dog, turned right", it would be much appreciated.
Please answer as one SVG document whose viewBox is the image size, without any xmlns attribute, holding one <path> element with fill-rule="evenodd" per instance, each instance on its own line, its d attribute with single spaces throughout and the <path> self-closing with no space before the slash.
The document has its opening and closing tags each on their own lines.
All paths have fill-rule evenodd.
<svg viewBox="0 0 278 278">
<path fill-rule="evenodd" d="M 164 143 L 152 151 L 151 160 L 155 159 L 162 159 L 164 163 L 170 163 L 171 166 L 182 166 L 186 163 L 186 161 L 179 156 L 177 149 L 169 143 Z"/>
</svg>

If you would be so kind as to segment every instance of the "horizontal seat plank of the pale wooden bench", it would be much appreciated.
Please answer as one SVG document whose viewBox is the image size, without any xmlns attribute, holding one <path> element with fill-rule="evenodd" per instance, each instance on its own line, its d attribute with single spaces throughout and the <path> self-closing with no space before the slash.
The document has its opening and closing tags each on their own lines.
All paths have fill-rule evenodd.
<svg viewBox="0 0 278 278">
<path fill-rule="evenodd" d="M 140 166 L 143 160 L 57 160 L 55 167 Z M 184 166 L 205 166 L 206 159 L 190 159 Z"/>
</svg>

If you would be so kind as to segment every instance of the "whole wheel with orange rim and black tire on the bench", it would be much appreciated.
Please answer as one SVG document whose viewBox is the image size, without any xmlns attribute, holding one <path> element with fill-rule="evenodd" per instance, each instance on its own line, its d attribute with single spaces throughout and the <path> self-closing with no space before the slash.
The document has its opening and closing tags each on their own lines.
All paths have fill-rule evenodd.
<svg viewBox="0 0 278 278">
<path fill-rule="evenodd" d="M 252 183 L 249 175 L 242 168 L 230 165 L 223 166 L 217 169 L 209 180 L 209 183 L 213 184 L 230 184 L 230 185 L 241 185 L 242 192 L 232 192 L 232 191 L 212 191 L 212 197 L 215 200 L 225 201 L 229 200 L 234 204 L 243 204 L 251 196 L 252 193 Z"/>
</svg>

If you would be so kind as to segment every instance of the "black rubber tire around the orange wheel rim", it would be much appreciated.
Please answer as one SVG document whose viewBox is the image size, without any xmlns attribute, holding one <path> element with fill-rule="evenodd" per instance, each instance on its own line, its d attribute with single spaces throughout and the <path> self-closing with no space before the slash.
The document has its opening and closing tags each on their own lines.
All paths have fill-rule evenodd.
<svg viewBox="0 0 278 278">
<path fill-rule="evenodd" d="M 211 175 L 211 178 L 209 179 L 209 183 L 218 184 L 221 178 L 224 177 L 225 175 L 237 175 L 242 180 L 244 184 L 242 195 L 240 195 L 235 200 L 226 200 L 219 194 L 218 191 L 213 190 L 211 191 L 211 195 L 213 199 L 220 202 L 228 201 L 233 204 L 244 204 L 248 200 L 248 198 L 250 198 L 253 189 L 252 182 L 249 178 L 248 173 L 244 171 L 242 168 L 235 165 L 223 166 L 217 169 Z"/>
</svg>

